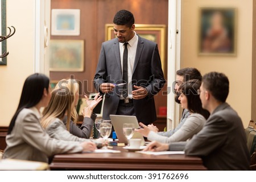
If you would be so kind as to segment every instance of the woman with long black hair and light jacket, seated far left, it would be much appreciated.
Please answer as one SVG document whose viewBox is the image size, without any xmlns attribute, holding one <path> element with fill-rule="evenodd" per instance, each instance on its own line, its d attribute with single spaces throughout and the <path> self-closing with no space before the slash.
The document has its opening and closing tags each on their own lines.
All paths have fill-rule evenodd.
<svg viewBox="0 0 256 182">
<path fill-rule="evenodd" d="M 51 99 L 49 78 L 30 75 L 23 85 L 18 108 L 11 119 L 3 158 L 48 162 L 48 157 L 61 153 L 81 153 L 96 149 L 92 141 L 68 142 L 49 137 L 40 124 L 40 108 Z"/>
</svg>

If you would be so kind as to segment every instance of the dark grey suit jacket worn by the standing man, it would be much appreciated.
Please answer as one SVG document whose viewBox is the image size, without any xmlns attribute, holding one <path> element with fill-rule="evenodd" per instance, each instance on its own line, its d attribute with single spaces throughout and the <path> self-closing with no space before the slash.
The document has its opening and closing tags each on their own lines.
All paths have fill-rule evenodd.
<svg viewBox="0 0 256 182">
<path fill-rule="evenodd" d="M 98 66 L 94 76 L 94 86 L 99 92 L 99 87 L 102 83 L 122 83 L 118 39 L 102 43 Z M 157 44 L 138 36 L 132 84 L 145 87 L 148 90 L 146 98 L 133 100 L 138 121 L 148 124 L 156 120 L 153 96 L 158 94 L 164 83 L 165 80 Z M 109 115 L 115 115 L 117 112 L 120 94 L 121 87 L 115 87 L 113 92 L 105 95 L 103 110 L 103 117 L 105 119 L 109 119 Z"/>
</svg>

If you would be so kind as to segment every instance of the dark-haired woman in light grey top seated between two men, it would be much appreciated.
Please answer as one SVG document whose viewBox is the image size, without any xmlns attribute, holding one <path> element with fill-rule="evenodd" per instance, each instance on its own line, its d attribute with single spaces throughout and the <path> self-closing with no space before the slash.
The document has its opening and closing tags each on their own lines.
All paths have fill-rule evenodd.
<svg viewBox="0 0 256 182">
<path fill-rule="evenodd" d="M 188 116 L 186 122 L 181 126 L 177 132 L 170 137 L 159 136 L 157 133 L 152 132 L 148 127 L 139 123 L 143 128 L 135 130 L 147 137 L 150 141 L 158 141 L 162 143 L 171 143 L 186 141 L 198 133 L 204 126 L 210 113 L 202 108 L 202 103 L 197 93 L 201 86 L 198 80 L 187 81 L 179 87 L 179 100 L 183 109 L 188 109 L 191 115 Z"/>
</svg>

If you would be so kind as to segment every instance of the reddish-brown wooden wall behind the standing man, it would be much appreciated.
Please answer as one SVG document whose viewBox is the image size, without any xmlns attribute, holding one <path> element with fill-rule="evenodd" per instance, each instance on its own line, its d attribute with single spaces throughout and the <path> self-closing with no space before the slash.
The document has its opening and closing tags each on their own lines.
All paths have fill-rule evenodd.
<svg viewBox="0 0 256 182">
<path fill-rule="evenodd" d="M 52 80 L 60 80 L 75 75 L 84 84 L 85 93 L 93 92 L 92 79 L 96 71 L 101 44 L 105 41 L 105 24 L 113 23 L 114 15 L 121 9 L 134 14 L 137 24 L 168 24 L 168 0 L 52 0 L 52 9 L 81 9 L 80 36 L 51 36 L 51 39 L 83 39 L 85 40 L 85 70 L 79 72 L 50 72 Z M 136 29 L 135 29 L 136 31 Z M 166 35 L 167 45 L 167 35 Z M 167 58 L 167 46 L 166 46 Z M 164 60 L 167 68 L 167 60 Z M 164 70 L 167 78 L 167 69 Z M 155 96 L 156 111 L 158 107 L 167 105 L 167 96 L 162 92 Z"/>
</svg>

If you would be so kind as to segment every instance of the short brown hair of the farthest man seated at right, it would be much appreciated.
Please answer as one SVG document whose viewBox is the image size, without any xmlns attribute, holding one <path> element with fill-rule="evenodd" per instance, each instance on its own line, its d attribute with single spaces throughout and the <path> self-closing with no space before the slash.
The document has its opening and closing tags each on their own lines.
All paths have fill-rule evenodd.
<svg viewBox="0 0 256 182">
<path fill-rule="evenodd" d="M 184 77 L 183 82 L 187 82 L 191 79 L 197 79 L 202 81 L 202 75 L 199 70 L 195 67 L 185 67 L 183 69 L 177 70 L 176 74 Z"/>
</svg>

